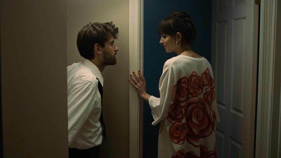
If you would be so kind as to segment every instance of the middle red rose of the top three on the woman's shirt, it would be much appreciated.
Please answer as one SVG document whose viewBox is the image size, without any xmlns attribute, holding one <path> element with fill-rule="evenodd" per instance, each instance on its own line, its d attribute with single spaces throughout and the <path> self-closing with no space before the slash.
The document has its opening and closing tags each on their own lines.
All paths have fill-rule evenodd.
<svg viewBox="0 0 281 158">
<path fill-rule="evenodd" d="M 197 75 L 196 72 L 193 72 L 188 78 L 188 92 L 190 92 L 193 96 L 198 96 L 202 93 L 202 78 Z"/>
</svg>

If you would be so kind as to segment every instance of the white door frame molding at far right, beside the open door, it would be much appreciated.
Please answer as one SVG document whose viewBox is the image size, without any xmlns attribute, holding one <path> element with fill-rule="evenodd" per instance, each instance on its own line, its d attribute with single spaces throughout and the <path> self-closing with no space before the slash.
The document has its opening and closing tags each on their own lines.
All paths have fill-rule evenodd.
<svg viewBox="0 0 281 158">
<path fill-rule="evenodd" d="M 261 1 L 255 157 L 270 157 L 277 0 Z"/>
</svg>

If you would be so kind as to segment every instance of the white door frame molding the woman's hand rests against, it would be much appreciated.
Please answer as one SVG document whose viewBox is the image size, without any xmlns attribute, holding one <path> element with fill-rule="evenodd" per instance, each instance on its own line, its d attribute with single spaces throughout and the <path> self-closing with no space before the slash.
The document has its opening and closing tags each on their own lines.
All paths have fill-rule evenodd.
<svg viewBox="0 0 281 158">
<path fill-rule="evenodd" d="M 143 72 L 143 0 L 129 2 L 129 74 Z M 130 84 L 128 82 L 128 84 Z M 129 87 L 129 157 L 142 157 L 142 101 L 136 90 Z"/>
</svg>

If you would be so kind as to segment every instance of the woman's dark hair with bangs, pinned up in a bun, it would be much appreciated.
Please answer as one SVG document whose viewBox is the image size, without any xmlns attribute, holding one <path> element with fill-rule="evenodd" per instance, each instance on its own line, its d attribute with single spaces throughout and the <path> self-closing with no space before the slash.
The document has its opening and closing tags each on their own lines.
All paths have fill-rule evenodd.
<svg viewBox="0 0 281 158">
<path fill-rule="evenodd" d="M 158 33 L 176 37 L 177 32 L 182 34 L 181 46 L 190 44 L 196 37 L 196 30 L 192 24 L 192 19 L 185 11 L 175 11 L 158 24 Z"/>
</svg>

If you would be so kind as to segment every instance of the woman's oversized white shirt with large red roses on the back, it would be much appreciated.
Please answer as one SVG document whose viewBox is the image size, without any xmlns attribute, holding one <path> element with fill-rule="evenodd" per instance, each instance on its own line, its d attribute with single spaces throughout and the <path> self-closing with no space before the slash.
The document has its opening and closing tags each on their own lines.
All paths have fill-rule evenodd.
<svg viewBox="0 0 281 158">
<path fill-rule="evenodd" d="M 209 155 L 215 153 L 215 121 L 219 118 L 212 69 L 206 58 L 179 55 L 167 60 L 159 90 L 159 106 L 164 104 L 161 108 L 152 106 L 155 113 L 162 109 L 158 157 L 200 156 L 200 149 Z M 161 91 L 167 92 L 165 96 Z"/>
</svg>

